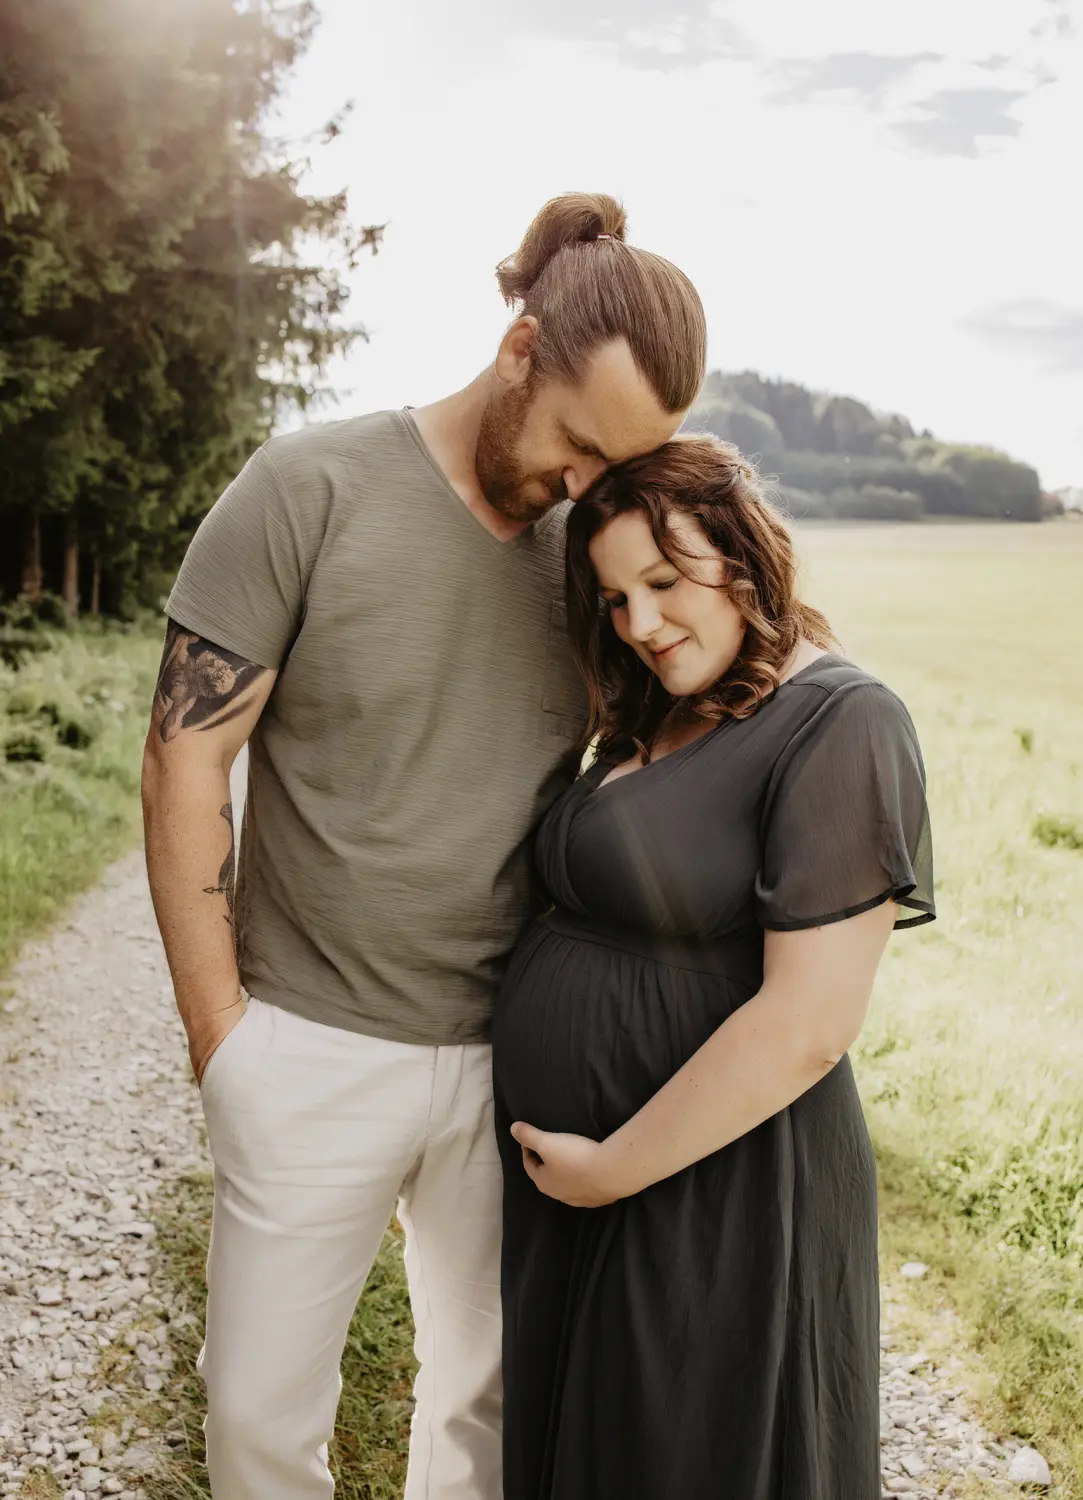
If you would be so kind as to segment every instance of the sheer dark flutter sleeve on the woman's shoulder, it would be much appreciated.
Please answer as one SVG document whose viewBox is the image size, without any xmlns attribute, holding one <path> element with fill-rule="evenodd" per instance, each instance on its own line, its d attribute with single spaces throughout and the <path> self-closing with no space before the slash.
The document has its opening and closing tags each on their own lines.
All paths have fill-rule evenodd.
<svg viewBox="0 0 1083 1500">
<path fill-rule="evenodd" d="M 758 915 L 824 927 L 884 902 L 933 921 L 926 768 L 903 704 L 878 682 L 837 690 L 786 747 L 764 810 Z"/>
</svg>

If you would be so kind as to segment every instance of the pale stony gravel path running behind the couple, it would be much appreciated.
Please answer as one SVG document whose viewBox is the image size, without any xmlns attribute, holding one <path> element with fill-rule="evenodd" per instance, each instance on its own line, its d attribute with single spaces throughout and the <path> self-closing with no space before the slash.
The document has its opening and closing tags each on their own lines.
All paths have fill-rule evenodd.
<svg viewBox="0 0 1083 1500">
<path fill-rule="evenodd" d="M 134 1350 L 144 1389 L 168 1398 L 176 1310 L 150 1292 L 148 1204 L 207 1161 L 141 855 L 27 948 L 0 1008 L 0 1496 L 148 1500 L 162 1436 L 124 1416 L 132 1386 L 110 1356 Z M 1020 1494 L 1008 1472 L 1026 1450 L 992 1442 L 944 1372 L 894 1347 L 894 1296 L 885 1496 Z"/>
</svg>

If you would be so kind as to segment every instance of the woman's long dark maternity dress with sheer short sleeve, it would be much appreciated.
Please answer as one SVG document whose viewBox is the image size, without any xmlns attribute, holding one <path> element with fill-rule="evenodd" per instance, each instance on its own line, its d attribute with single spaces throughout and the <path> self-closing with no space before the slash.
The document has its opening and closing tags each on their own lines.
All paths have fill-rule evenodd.
<svg viewBox="0 0 1083 1500">
<path fill-rule="evenodd" d="M 878 1500 L 876 1178 L 849 1059 L 603 1209 L 537 1191 L 508 1125 L 597 1140 L 762 981 L 764 928 L 933 916 L 900 700 L 838 657 L 544 820 L 555 909 L 494 1024 L 506 1500 Z"/>
</svg>

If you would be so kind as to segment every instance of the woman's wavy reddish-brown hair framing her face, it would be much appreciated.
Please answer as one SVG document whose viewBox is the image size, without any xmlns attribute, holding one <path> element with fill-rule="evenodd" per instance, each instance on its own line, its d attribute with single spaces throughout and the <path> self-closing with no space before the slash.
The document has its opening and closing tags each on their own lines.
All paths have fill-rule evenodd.
<svg viewBox="0 0 1083 1500">
<path fill-rule="evenodd" d="M 568 632 L 591 710 L 584 742 L 597 736 L 600 756 L 639 750 L 650 759 L 676 700 L 614 630 L 590 555 L 597 532 L 633 512 L 646 518 L 658 552 L 682 573 L 688 554 L 669 528 L 669 514 L 681 512 L 698 520 L 724 558 L 720 586 L 744 616 L 736 660 L 692 700 L 700 717 L 712 723 L 747 718 L 776 692 L 801 640 L 824 650 L 836 642 L 824 615 L 798 598 L 789 531 L 759 474 L 732 444 L 676 436 L 645 458 L 609 470 L 573 507 L 567 530 Z"/>
</svg>

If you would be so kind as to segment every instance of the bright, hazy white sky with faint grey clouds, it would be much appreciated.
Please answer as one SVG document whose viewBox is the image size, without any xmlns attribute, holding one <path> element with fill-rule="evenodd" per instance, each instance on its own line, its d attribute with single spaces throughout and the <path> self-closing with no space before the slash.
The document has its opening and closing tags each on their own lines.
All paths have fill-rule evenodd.
<svg viewBox="0 0 1083 1500">
<path fill-rule="evenodd" d="M 603 190 L 696 282 L 711 368 L 1083 484 L 1076 0 L 318 4 L 282 124 L 352 98 L 309 186 L 390 220 L 338 414 L 472 378 L 507 321 L 494 264 L 546 198 Z"/>
</svg>

